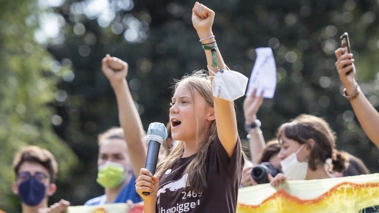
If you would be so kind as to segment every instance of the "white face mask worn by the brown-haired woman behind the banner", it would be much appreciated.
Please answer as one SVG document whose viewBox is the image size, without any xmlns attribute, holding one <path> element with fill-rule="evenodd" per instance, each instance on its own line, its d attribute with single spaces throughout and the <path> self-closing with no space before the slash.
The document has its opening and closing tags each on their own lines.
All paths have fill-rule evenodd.
<svg viewBox="0 0 379 213">
<path fill-rule="evenodd" d="M 286 159 L 280 161 L 284 175 L 291 177 L 293 180 L 305 180 L 308 171 L 308 162 L 300 162 L 297 160 L 297 153 L 304 147 L 305 143 L 300 148 L 287 156 Z"/>
</svg>

